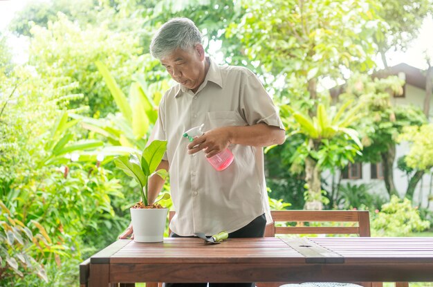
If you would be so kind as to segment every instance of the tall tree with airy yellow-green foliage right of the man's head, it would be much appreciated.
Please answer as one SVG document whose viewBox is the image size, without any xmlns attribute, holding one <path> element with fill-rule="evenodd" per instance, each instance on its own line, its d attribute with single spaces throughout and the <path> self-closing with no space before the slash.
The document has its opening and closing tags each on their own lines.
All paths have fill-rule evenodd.
<svg viewBox="0 0 433 287">
<path fill-rule="evenodd" d="M 329 100 L 320 89 L 325 78 L 342 79 L 344 69 L 368 71 L 374 66 L 371 37 L 380 23 L 374 1 L 257 0 L 245 9 L 239 23 L 229 26 L 226 37 L 239 39 L 243 53 L 273 75 L 271 79 L 284 80 L 279 89 L 286 95 L 282 101 L 290 101 L 294 111 L 310 120 L 322 117 L 320 104 L 325 106 Z M 326 149 L 329 142 L 322 141 L 322 135 L 305 134 L 311 154 Z M 347 141 L 338 144 L 343 148 Z M 318 160 L 310 156 L 304 161 L 306 178 L 317 177 Z M 315 176 L 311 177 L 311 171 Z M 320 200 L 320 176 L 308 188 Z"/>
</svg>

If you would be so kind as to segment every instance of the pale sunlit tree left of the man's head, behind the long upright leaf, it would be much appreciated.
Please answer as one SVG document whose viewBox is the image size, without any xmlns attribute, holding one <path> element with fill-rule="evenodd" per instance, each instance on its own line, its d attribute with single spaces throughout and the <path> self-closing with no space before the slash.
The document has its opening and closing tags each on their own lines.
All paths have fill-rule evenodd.
<svg viewBox="0 0 433 287">
<path fill-rule="evenodd" d="M 131 75 L 156 65 L 149 55 L 142 55 L 136 33 L 111 31 L 109 21 L 83 30 L 66 15 L 59 14 L 57 21 L 50 22 L 48 28 L 34 26 L 30 32 L 33 37 L 29 64 L 45 78 L 62 79 L 73 86 L 73 93 L 84 95 L 80 101 L 71 100 L 68 107 L 95 118 L 116 111 L 95 65 L 97 60 L 107 64 L 124 91 L 132 82 Z M 85 111 L 85 105 L 90 110 Z"/>
</svg>

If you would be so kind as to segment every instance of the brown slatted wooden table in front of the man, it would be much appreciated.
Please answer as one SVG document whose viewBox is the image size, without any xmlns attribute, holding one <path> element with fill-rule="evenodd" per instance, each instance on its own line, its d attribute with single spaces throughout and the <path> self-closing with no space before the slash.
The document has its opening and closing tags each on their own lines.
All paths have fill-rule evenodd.
<svg viewBox="0 0 433 287">
<path fill-rule="evenodd" d="M 119 240 L 91 257 L 89 278 L 95 287 L 158 281 L 433 281 L 433 238 L 228 239 L 215 245 L 196 238 Z"/>
</svg>

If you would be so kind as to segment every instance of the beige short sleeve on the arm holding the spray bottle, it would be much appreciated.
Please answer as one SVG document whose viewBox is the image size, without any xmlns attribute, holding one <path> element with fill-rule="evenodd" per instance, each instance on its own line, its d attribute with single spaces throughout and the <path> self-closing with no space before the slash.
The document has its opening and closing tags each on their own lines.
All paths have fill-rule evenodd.
<svg viewBox="0 0 433 287">
<path fill-rule="evenodd" d="M 241 81 L 240 113 L 249 125 L 264 122 L 284 129 L 284 124 L 270 95 L 257 76 L 247 70 Z"/>
</svg>

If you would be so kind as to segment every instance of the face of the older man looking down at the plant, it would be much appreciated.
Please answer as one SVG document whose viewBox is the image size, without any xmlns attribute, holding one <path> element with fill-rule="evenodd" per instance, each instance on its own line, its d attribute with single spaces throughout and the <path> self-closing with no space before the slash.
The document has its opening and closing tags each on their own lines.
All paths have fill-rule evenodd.
<svg viewBox="0 0 433 287">
<path fill-rule="evenodd" d="M 194 93 L 205 80 L 205 55 L 201 44 L 188 50 L 176 49 L 160 62 L 173 80 Z"/>
</svg>

